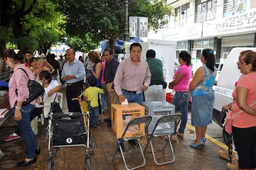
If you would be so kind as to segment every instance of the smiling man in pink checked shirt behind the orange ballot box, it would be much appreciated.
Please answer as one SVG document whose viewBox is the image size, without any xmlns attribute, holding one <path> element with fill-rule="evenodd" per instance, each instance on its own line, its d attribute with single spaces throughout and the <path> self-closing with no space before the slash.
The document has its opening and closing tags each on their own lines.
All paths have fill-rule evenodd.
<svg viewBox="0 0 256 170">
<path fill-rule="evenodd" d="M 140 43 L 130 45 L 130 57 L 123 60 L 116 71 L 115 91 L 120 102 L 127 98 L 129 103 L 142 104 L 143 94 L 150 84 L 149 65 L 141 59 Z"/>
</svg>

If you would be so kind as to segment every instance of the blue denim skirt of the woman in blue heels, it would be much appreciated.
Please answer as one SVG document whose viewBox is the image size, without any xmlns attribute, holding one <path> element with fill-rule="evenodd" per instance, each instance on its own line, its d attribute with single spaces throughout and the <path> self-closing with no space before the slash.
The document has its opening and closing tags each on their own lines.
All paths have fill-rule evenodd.
<svg viewBox="0 0 256 170">
<path fill-rule="evenodd" d="M 203 127 L 213 122 L 212 116 L 214 99 L 214 93 L 209 93 L 202 96 L 192 96 L 192 126 Z"/>
</svg>

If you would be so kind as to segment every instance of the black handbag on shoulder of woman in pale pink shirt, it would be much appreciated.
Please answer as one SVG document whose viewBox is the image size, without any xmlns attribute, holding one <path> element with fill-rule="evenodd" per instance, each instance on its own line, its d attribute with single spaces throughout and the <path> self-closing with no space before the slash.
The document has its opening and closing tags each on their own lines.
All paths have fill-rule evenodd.
<svg viewBox="0 0 256 170">
<path fill-rule="evenodd" d="M 21 69 L 25 72 L 26 76 L 28 77 L 28 74 L 23 68 L 17 68 Z M 22 103 L 22 105 L 27 105 L 33 100 L 35 100 L 37 97 L 39 97 L 41 94 L 45 92 L 45 89 L 40 85 L 39 82 L 35 80 L 30 80 L 28 77 L 28 91 L 29 91 L 29 97 L 28 99 Z M 15 90 L 16 95 L 18 96 L 18 89 Z"/>
</svg>

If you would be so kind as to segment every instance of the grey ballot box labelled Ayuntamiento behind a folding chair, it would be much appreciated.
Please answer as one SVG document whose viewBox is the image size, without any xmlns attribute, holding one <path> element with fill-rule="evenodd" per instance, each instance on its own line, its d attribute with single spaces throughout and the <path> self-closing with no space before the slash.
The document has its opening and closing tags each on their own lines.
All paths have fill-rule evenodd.
<svg viewBox="0 0 256 170">
<path fill-rule="evenodd" d="M 175 114 L 175 106 L 166 102 L 143 102 L 142 105 L 145 107 L 146 115 L 152 116 L 152 121 L 149 124 L 148 133 L 151 134 L 157 120 L 168 114 Z M 162 133 L 174 133 L 175 125 L 174 122 L 165 122 L 158 124 L 154 134 Z"/>
</svg>

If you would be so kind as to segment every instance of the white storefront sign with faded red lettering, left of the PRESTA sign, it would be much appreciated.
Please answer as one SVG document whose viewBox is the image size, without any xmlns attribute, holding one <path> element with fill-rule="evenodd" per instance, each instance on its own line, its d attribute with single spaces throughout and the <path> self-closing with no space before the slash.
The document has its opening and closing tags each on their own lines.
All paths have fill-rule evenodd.
<svg viewBox="0 0 256 170">
<path fill-rule="evenodd" d="M 186 25 L 175 29 L 174 31 L 165 32 L 165 40 L 189 40 L 202 37 L 202 23 Z"/>
</svg>

